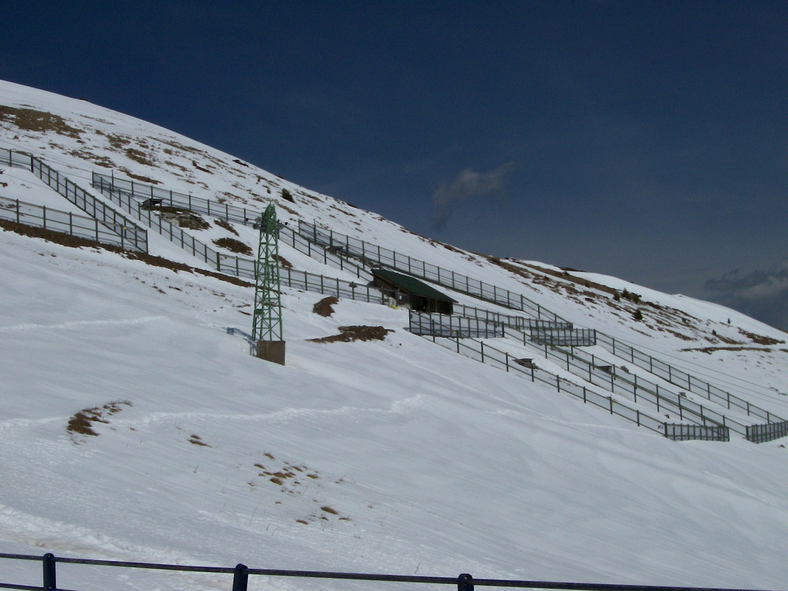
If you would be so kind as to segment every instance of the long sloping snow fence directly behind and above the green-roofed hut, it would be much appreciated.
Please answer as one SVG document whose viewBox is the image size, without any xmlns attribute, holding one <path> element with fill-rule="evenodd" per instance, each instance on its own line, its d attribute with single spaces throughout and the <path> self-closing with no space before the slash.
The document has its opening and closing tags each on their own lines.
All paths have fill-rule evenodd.
<svg viewBox="0 0 788 591">
<path fill-rule="evenodd" d="M 318 228 L 314 224 L 299 220 L 299 233 L 314 243 L 329 247 L 335 251 L 342 252 L 344 255 L 359 258 L 362 264 L 375 263 L 408 273 L 413 277 L 421 277 L 427 281 L 432 281 L 445 288 L 454 289 L 456 292 L 466 293 L 488 302 L 497 303 L 511 310 L 522 310 L 529 314 L 535 314 L 536 318 L 545 318 L 553 322 L 566 322 L 558 314 L 541 307 L 541 305 L 522 296 L 522 294 L 510 292 L 507 289 L 499 288 L 496 285 L 479 281 L 455 273 L 448 269 L 442 269 L 429 262 L 412 258 L 409 255 L 402 255 L 396 251 L 383 248 L 377 244 L 367 243 L 345 234 Z"/>
</svg>

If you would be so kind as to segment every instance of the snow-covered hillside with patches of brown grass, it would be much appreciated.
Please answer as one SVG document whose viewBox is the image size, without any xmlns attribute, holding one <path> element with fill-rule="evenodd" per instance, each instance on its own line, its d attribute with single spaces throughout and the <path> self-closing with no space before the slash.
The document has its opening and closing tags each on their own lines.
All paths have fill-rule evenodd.
<svg viewBox="0 0 788 591">
<path fill-rule="evenodd" d="M 461 251 L 177 133 L 16 84 L 0 83 L 0 128 L 0 147 L 86 189 L 101 172 L 255 210 L 270 201 L 291 225 L 522 294 L 788 418 L 785 333 L 733 310 Z M 0 197 L 80 212 L 2 163 Z M 199 240 L 255 247 L 253 229 L 205 221 L 189 230 Z M 149 246 L 208 269 L 154 232 Z M 286 245 L 280 254 L 354 278 Z M 0 232 L 0 273 L 0 552 L 653 585 L 786 580 L 783 440 L 667 440 L 414 336 L 406 310 L 380 304 L 340 299 L 323 317 L 321 294 L 284 288 L 287 363 L 277 366 L 227 330 L 250 330 L 252 288 L 11 231 Z M 346 325 L 392 332 L 310 341 Z M 98 437 L 67 430 L 80 411 L 101 419 L 90 425 Z M 0 561 L 0 581 L 35 585 L 39 568 Z M 61 586 L 86 586 L 85 571 L 61 570 Z M 87 584 L 226 586 L 128 576 L 91 573 Z"/>
</svg>

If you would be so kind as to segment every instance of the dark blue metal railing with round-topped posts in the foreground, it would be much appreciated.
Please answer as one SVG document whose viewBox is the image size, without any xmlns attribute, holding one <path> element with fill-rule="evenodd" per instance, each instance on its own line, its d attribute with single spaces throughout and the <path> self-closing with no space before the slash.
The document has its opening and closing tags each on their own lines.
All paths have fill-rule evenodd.
<svg viewBox="0 0 788 591">
<path fill-rule="evenodd" d="M 366 581 L 386 583 L 416 583 L 422 585 L 457 585 L 457 591 L 474 591 L 480 587 L 515 587 L 519 589 L 566 589 L 567 591 L 756 591 L 754 589 L 726 589 L 719 587 L 675 587 L 663 585 L 610 585 L 607 583 L 576 583 L 559 581 L 522 581 L 504 578 L 474 578 L 462 573 L 456 577 L 429 577 L 416 574 L 370 574 L 332 571 L 289 571 L 271 568 L 249 568 L 243 563 L 235 567 L 198 567 L 184 564 L 136 563 L 121 560 L 99 560 L 84 558 L 64 558 L 47 553 L 43 556 L 26 554 L 0 554 L 0 559 L 34 561 L 42 563 L 42 585 L 17 585 L 0 582 L 2 589 L 24 589 L 25 591 L 57 591 L 57 565 L 80 564 L 95 567 L 135 568 L 153 571 L 182 573 L 232 574 L 232 591 L 247 591 L 249 576 L 319 578 L 324 580 Z M 229 578 L 229 577 L 228 577 Z M 61 589 L 61 591 L 67 591 Z"/>
</svg>

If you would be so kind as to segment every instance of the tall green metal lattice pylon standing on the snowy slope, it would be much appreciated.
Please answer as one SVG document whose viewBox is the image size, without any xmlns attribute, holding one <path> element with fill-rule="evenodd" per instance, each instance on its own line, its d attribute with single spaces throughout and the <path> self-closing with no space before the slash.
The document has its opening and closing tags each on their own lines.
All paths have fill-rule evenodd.
<svg viewBox="0 0 788 591">
<path fill-rule="evenodd" d="M 282 340 L 282 307 L 279 300 L 279 230 L 277 210 L 266 207 L 255 223 L 260 229 L 260 242 L 255 265 L 255 308 L 252 316 L 252 338 L 258 341 Z M 258 351 L 258 357 L 260 352 Z M 284 355 L 282 355 L 284 358 Z"/>
</svg>

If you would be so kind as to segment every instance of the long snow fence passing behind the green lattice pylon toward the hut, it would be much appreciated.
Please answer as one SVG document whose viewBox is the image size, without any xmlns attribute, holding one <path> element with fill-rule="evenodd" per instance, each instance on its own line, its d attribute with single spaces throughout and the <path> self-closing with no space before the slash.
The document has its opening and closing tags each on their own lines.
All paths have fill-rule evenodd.
<svg viewBox="0 0 788 591">
<path fill-rule="evenodd" d="M 118 206 L 128 211 L 129 215 L 142 221 L 143 224 L 156 230 L 162 236 L 169 238 L 173 243 L 180 245 L 192 256 L 203 260 L 220 273 L 255 279 L 255 266 L 257 265 L 255 259 L 220 253 L 169 221 L 162 219 L 161 216 L 152 213 L 151 210 L 143 209 L 136 199 L 132 199 L 131 195 L 104 182 L 101 175 L 98 180 L 94 177 L 94 182 L 94 187 L 112 203 L 117 203 Z M 352 281 L 344 281 L 336 277 L 307 273 L 307 271 L 299 271 L 291 267 L 282 267 L 279 271 L 279 278 L 281 283 L 288 285 L 288 287 L 303 289 L 307 292 L 325 293 L 340 299 L 350 298 L 363 302 L 387 303 L 389 297 L 379 288 L 355 284 Z"/>
</svg>

